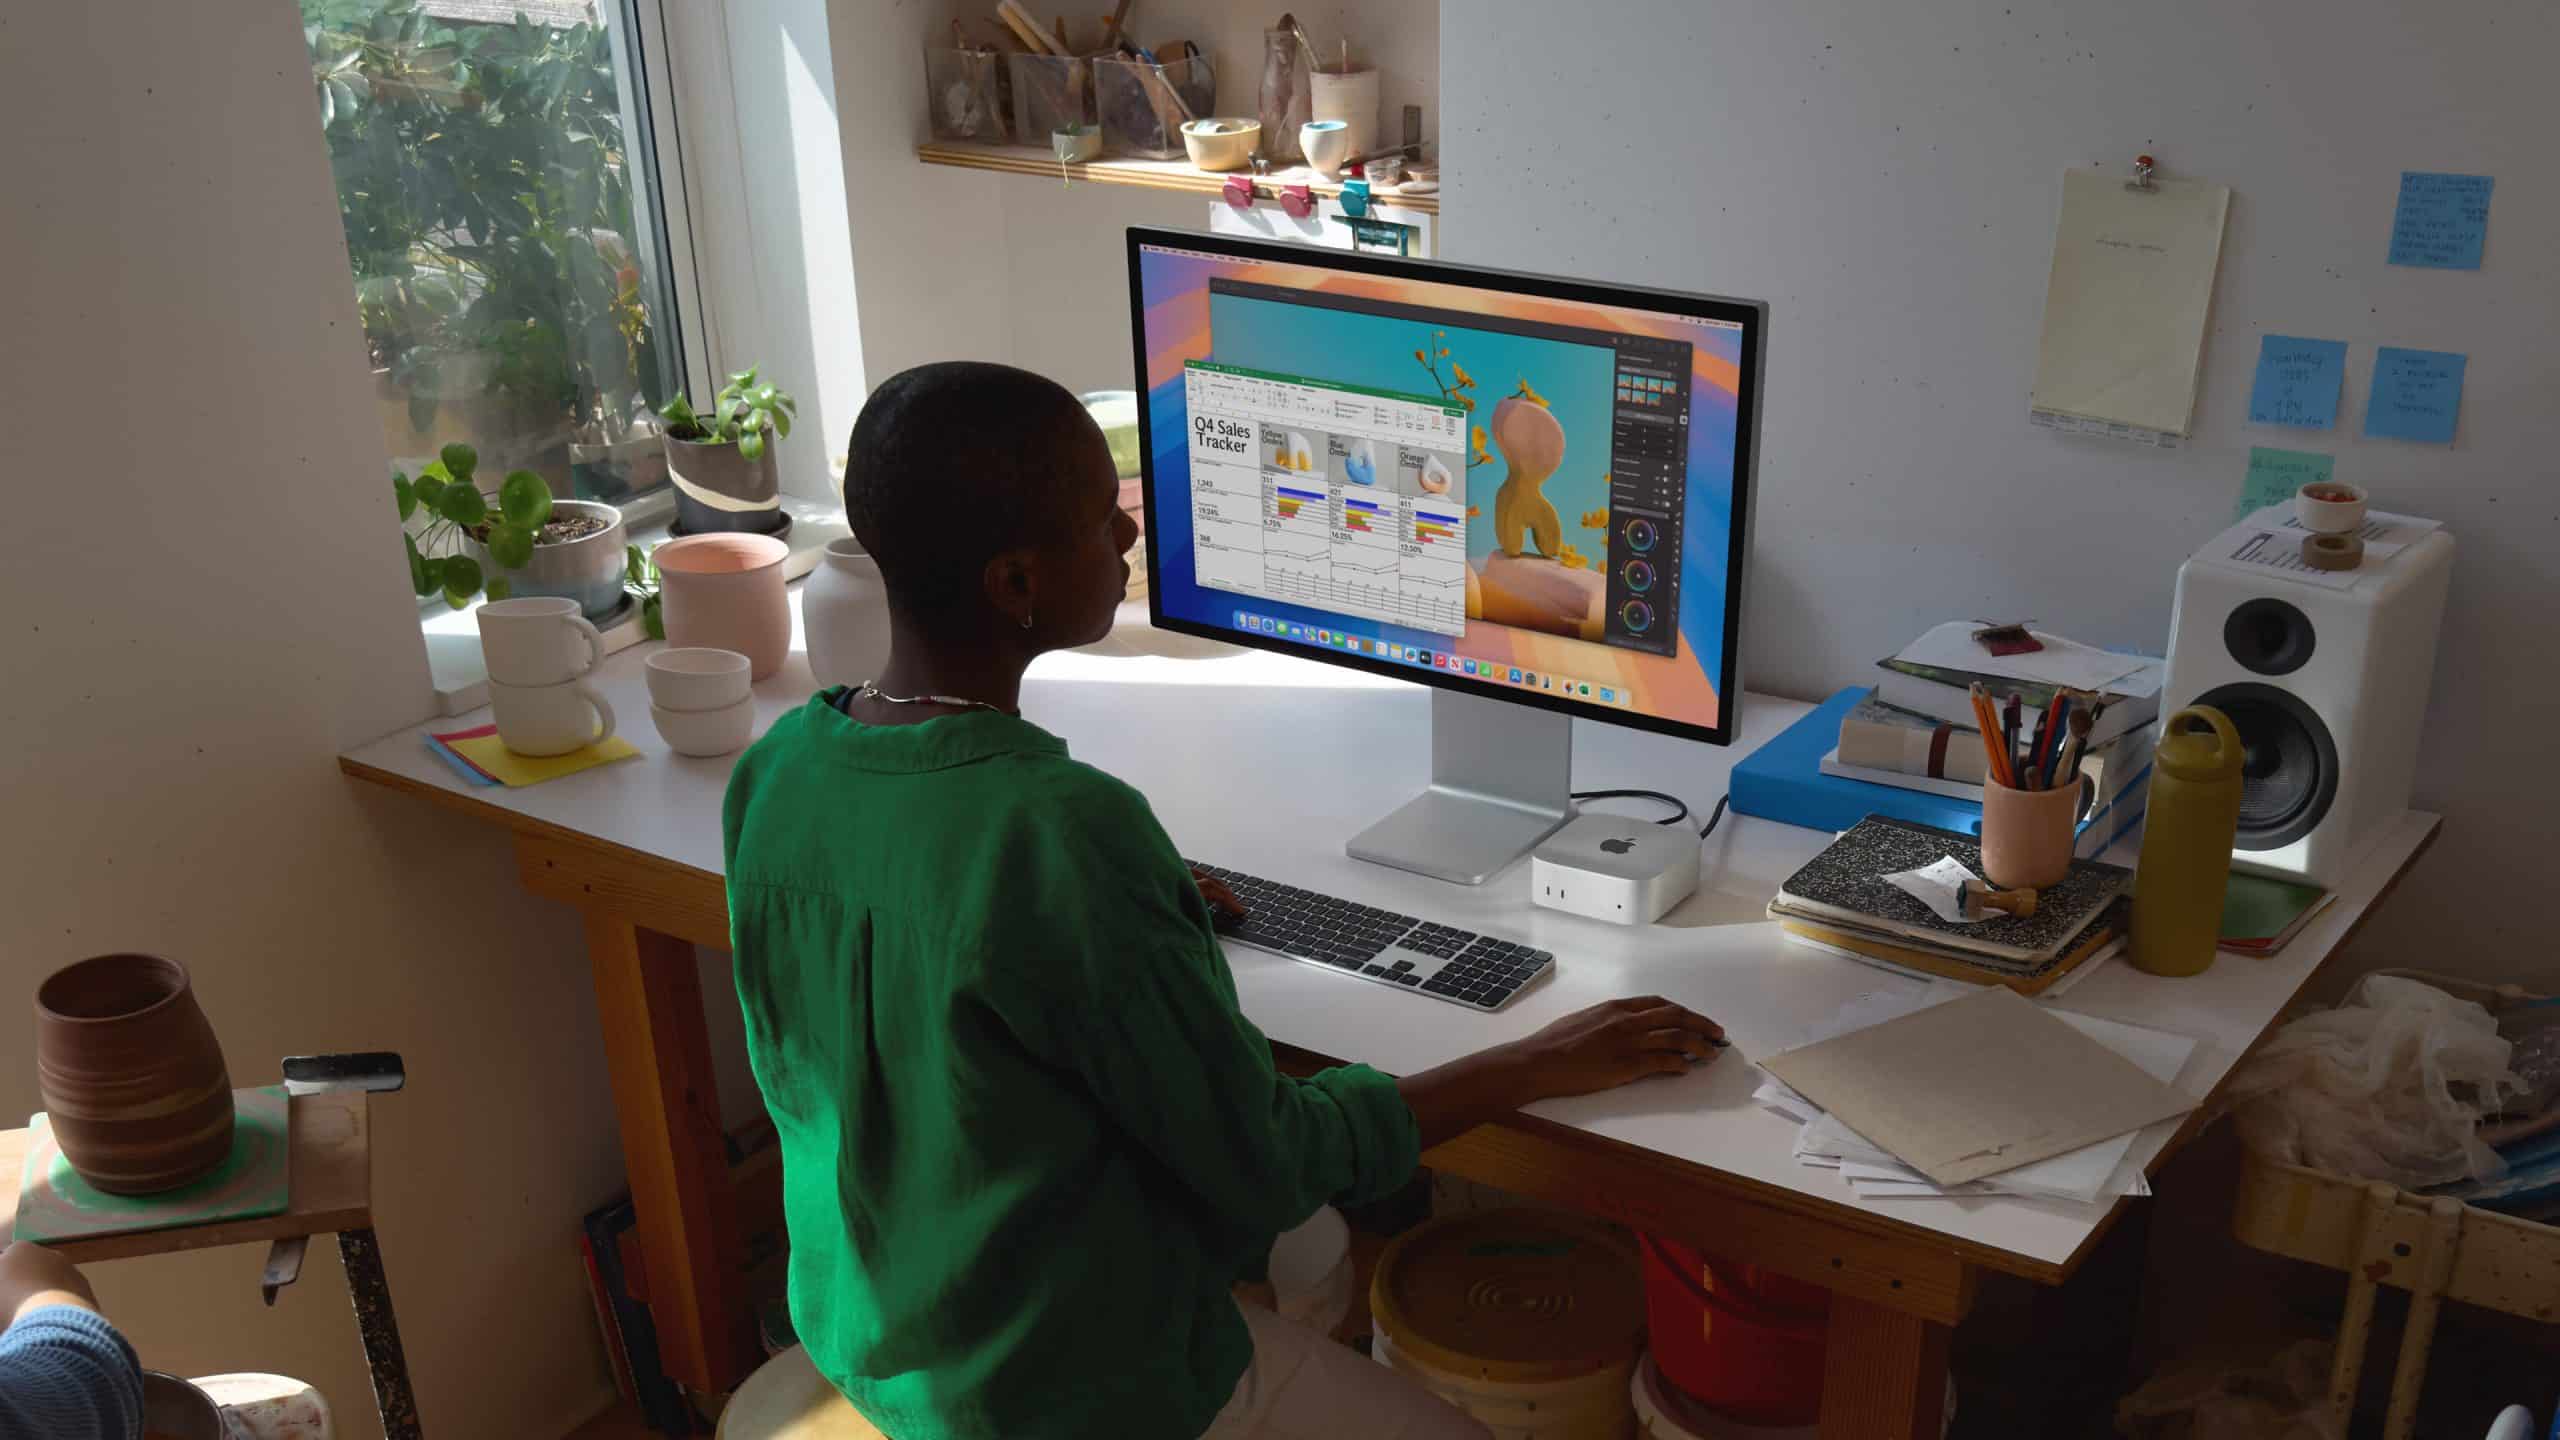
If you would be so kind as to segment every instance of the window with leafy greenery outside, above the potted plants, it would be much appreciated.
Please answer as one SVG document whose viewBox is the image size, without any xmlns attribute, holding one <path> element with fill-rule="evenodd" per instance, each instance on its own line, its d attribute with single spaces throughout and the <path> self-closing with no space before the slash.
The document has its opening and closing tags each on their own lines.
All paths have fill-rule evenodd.
<svg viewBox="0 0 2560 1440">
<path fill-rule="evenodd" d="M 689 251 L 632 0 L 300 3 L 392 464 L 466 441 L 486 489 L 663 489 Z"/>
</svg>

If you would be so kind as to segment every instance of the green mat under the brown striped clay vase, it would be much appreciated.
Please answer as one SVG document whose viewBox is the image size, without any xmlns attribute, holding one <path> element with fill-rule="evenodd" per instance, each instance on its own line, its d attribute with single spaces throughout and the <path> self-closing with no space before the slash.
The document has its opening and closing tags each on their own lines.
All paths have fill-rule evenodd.
<svg viewBox="0 0 2560 1440">
<path fill-rule="evenodd" d="M 97 1235 L 133 1235 L 264 1220 L 292 1199 L 292 1109 L 284 1086 L 230 1092 L 230 1158 L 200 1181 L 166 1194 L 108 1194 L 79 1179 L 49 1117 L 28 1122 L 26 1168 L 18 1179 L 18 1240 L 59 1245 Z"/>
</svg>

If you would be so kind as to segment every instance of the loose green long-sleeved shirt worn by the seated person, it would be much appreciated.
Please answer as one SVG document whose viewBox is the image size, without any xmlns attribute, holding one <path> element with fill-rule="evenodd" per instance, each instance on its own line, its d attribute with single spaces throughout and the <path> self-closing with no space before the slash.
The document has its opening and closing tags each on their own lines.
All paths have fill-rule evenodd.
<svg viewBox="0 0 2560 1440">
<path fill-rule="evenodd" d="M 1388 1076 L 1272 1068 L 1155 812 L 1037 725 L 819 694 L 722 840 L 791 1320 L 896 1440 L 1201 1435 L 1229 1286 L 1418 1161 Z"/>
</svg>

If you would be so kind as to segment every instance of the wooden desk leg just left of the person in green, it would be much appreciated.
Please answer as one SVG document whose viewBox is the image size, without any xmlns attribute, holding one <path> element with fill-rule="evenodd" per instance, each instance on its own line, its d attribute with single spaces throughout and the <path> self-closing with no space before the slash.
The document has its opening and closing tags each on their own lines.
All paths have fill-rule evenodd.
<svg viewBox="0 0 2560 1440">
<path fill-rule="evenodd" d="M 604 1061 L 622 1115 L 648 1309 L 666 1373 L 704 1394 L 748 1376 L 753 1317 L 737 1294 L 730 1156 L 694 945 L 586 915 Z"/>
</svg>

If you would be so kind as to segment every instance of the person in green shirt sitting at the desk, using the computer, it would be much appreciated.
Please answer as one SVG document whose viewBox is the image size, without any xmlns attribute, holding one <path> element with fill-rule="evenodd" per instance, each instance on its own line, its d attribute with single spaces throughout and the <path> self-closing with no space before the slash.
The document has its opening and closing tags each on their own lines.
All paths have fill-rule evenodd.
<svg viewBox="0 0 2560 1440">
<path fill-rule="evenodd" d="M 1623 999 L 1400 1081 L 1277 1074 L 1211 930 L 1234 897 L 1019 715 L 1034 656 L 1108 633 L 1137 541 L 1078 400 L 993 364 L 899 374 L 852 428 L 845 512 L 888 664 L 781 717 L 722 822 L 809 1358 L 896 1440 L 1482 1435 L 1234 1281 L 1423 1145 L 1677 1074 L 1720 1030 Z"/>
</svg>

